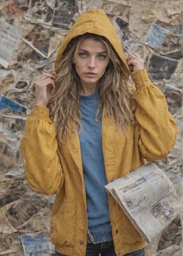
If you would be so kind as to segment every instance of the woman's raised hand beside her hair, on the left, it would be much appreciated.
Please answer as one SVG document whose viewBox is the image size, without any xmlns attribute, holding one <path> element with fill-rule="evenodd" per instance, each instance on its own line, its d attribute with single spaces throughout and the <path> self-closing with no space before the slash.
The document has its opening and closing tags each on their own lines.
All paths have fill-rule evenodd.
<svg viewBox="0 0 183 256">
<path fill-rule="evenodd" d="M 47 106 L 51 96 L 51 90 L 55 89 L 55 74 L 53 72 L 44 73 L 35 82 L 35 104 L 42 107 Z"/>
</svg>

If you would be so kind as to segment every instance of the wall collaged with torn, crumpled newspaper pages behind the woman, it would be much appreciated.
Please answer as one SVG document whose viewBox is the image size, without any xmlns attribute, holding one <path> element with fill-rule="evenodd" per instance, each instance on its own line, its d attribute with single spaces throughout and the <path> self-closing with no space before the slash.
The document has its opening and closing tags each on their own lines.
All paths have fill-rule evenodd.
<svg viewBox="0 0 183 256">
<path fill-rule="evenodd" d="M 173 181 L 182 202 L 182 6 L 182 0 L 0 1 L 0 255 L 35 252 L 34 235 L 43 251 L 39 255 L 53 250 L 45 243 L 54 196 L 39 195 L 27 186 L 19 141 L 34 104 L 34 81 L 53 69 L 58 45 L 87 9 L 102 8 L 108 14 L 126 56 L 138 52 L 150 79 L 165 94 L 179 133 L 173 151 L 157 165 Z M 180 227 L 181 216 L 146 255 L 182 255 Z"/>
</svg>

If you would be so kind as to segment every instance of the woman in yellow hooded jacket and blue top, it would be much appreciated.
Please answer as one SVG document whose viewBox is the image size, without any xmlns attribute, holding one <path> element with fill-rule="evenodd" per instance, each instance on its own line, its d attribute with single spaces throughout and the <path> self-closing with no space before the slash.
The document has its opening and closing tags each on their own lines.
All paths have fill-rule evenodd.
<svg viewBox="0 0 183 256">
<path fill-rule="evenodd" d="M 55 255 L 144 255 L 144 240 L 104 187 L 166 156 L 176 140 L 144 61 L 136 53 L 125 60 L 104 11 L 87 10 L 59 46 L 55 74 L 43 74 L 35 89 L 21 148 L 30 186 L 57 194 Z"/>
</svg>

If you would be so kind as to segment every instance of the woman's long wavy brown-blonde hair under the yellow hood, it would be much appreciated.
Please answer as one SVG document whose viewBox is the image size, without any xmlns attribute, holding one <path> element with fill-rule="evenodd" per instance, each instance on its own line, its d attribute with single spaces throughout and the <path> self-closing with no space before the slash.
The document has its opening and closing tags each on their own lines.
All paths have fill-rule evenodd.
<svg viewBox="0 0 183 256">
<path fill-rule="evenodd" d="M 109 64 L 97 84 L 99 105 L 96 121 L 98 113 L 104 106 L 106 109 L 104 115 L 113 118 L 116 127 L 121 131 L 125 132 L 126 127 L 134 120 L 133 89 L 128 84 L 120 57 L 105 37 L 86 33 L 73 38 L 64 50 L 57 68 L 55 93 L 47 104 L 50 109 L 50 119 L 54 122 L 57 136 L 62 141 L 65 140 L 67 132 L 75 128 L 75 125 L 79 131 L 82 129 L 79 109 L 81 84 L 75 71 L 73 58 L 85 38 L 100 40 L 109 54 Z"/>
</svg>

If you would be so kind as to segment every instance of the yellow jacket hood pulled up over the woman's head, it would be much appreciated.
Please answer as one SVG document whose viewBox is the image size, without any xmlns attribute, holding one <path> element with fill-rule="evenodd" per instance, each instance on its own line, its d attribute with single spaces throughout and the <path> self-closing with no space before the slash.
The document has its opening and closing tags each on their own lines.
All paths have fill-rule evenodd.
<svg viewBox="0 0 183 256">
<path fill-rule="evenodd" d="M 74 37 L 85 33 L 97 34 L 108 39 L 110 44 L 112 44 L 113 48 L 116 50 L 118 56 L 121 58 L 123 65 L 122 68 L 125 70 L 125 74 L 128 77 L 130 72 L 124 52 L 122 51 L 120 40 L 117 37 L 117 33 L 112 22 L 102 9 L 87 10 L 79 16 L 77 21 L 75 21 L 74 25 L 67 32 L 63 42 L 58 48 L 57 57 L 55 59 L 55 71 L 57 72 L 59 60 L 63 51 L 66 49 L 67 44 Z"/>
</svg>

